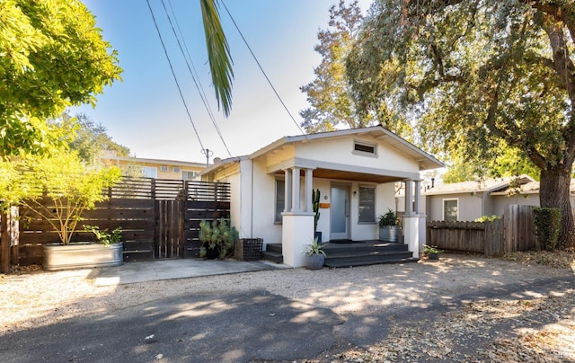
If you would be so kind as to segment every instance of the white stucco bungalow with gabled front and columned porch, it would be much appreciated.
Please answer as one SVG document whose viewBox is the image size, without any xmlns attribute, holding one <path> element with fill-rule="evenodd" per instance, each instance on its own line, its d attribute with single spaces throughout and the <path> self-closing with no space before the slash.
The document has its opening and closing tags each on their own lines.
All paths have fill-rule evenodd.
<svg viewBox="0 0 575 363">
<path fill-rule="evenodd" d="M 420 171 L 442 166 L 375 126 L 282 137 L 252 155 L 216 158 L 202 179 L 230 183 L 231 222 L 241 238 L 282 243 L 284 263 L 297 267 L 305 264 L 305 245 L 314 240 L 312 190 L 321 192 L 317 229 L 323 242 L 374 240 L 377 217 L 395 207 L 396 182 L 413 193 L 415 202 L 404 208 L 403 236 L 418 257 L 425 243 Z"/>
</svg>

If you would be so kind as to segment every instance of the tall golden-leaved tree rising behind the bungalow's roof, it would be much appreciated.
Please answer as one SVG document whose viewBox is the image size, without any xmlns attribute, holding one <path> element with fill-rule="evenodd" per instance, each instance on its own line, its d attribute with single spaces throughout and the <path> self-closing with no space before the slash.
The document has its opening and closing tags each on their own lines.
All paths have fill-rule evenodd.
<svg viewBox="0 0 575 363">
<path fill-rule="evenodd" d="M 367 126 L 369 118 L 359 119 L 355 104 L 349 95 L 348 77 L 345 74 L 345 57 L 361 25 L 358 1 L 346 6 L 330 8 L 330 29 L 317 34 L 320 44 L 315 46 L 322 56 L 322 63 L 314 68 L 315 79 L 300 89 L 307 93 L 311 107 L 300 111 L 304 118 L 301 126 L 305 132 L 331 131 L 341 124 L 348 128 Z"/>
</svg>

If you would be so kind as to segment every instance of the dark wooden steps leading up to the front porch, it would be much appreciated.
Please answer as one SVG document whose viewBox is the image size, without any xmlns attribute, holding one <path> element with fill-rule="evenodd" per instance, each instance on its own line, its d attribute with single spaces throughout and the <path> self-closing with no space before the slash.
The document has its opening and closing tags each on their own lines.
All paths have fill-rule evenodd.
<svg viewBox="0 0 575 363">
<path fill-rule="evenodd" d="M 323 248 L 323 251 L 327 253 L 323 263 L 327 267 L 366 266 L 420 260 L 412 257 L 407 244 L 403 243 L 381 243 L 377 241 L 349 244 L 330 243 Z"/>
</svg>

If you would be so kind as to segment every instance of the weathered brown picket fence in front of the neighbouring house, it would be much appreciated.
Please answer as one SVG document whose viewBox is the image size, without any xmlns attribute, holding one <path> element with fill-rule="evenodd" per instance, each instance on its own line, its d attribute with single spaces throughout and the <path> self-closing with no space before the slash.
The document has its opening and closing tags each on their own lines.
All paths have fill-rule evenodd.
<svg viewBox="0 0 575 363">
<path fill-rule="evenodd" d="M 491 222 L 427 224 L 428 244 L 448 251 L 482 252 L 496 256 L 535 248 L 533 207 L 508 205 L 501 219 Z"/>
</svg>

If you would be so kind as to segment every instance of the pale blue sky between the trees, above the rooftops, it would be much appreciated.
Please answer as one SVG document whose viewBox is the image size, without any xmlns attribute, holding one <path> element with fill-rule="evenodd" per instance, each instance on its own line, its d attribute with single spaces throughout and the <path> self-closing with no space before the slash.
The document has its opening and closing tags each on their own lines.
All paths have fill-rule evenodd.
<svg viewBox="0 0 575 363">
<path fill-rule="evenodd" d="M 117 82 L 98 96 L 95 109 L 84 112 L 108 129 L 137 157 L 205 162 L 201 149 L 229 157 L 208 117 L 174 39 L 160 0 L 149 0 L 188 104 L 187 116 L 145 0 L 84 0 L 96 16 L 103 37 L 119 52 L 124 69 Z M 317 32 L 326 29 L 329 8 L 338 0 L 226 0 L 235 22 L 288 110 L 301 122 L 307 107 L 299 87 L 314 79 L 321 58 L 314 51 Z M 349 3 L 349 2 L 348 2 Z M 371 2 L 360 2 L 364 13 Z M 190 52 L 199 83 L 208 95 L 217 126 L 231 155 L 248 155 L 279 137 L 300 134 L 296 123 L 273 93 L 223 6 L 222 25 L 234 60 L 233 108 L 229 118 L 217 110 L 211 87 L 199 0 L 164 0 L 173 8 Z M 171 13 L 170 13 L 171 14 Z M 172 14 L 171 14 L 172 16 Z M 176 30 L 177 31 L 177 30 Z M 201 145 L 200 142 L 201 141 Z M 211 159 L 210 159 L 211 162 Z"/>
</svg>

